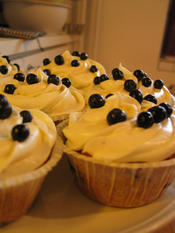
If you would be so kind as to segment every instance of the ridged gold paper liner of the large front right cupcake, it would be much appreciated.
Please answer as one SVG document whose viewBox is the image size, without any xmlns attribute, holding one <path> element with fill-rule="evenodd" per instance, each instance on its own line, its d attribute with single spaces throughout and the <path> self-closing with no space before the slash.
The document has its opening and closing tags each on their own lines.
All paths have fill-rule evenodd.
<svg viewBox="0 0 175 233">
<path fill-rule="evenodd" d="M 66 124 L 67 121 L 62 122 L 60 130 Z M 138 207 L 151 203 L 175 177 L 175 159 L 107 164 L 66 146 L 64 152 L 80 190 L 91 199 L 109 206 Z"/>
</svg>

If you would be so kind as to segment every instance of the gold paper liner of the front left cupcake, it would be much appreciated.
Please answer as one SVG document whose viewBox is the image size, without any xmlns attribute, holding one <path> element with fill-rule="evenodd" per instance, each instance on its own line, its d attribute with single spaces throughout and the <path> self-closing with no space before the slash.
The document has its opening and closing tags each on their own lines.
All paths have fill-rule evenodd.
<svg viewBox="0 0 175 233">
<path fill-rule="evenodd" d="M 0 225 L 24 215 L 36 198 L 48 172 L 62 157 L 63 144 L 57 140 L 47 162 L 40 168 L 0 180 Z"/>
</svg>

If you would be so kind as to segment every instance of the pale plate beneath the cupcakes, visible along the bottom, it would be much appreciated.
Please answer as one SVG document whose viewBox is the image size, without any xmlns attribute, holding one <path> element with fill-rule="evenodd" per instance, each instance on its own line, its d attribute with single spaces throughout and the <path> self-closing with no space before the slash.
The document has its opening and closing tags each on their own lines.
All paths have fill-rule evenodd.
<svg viewBox="0 0 175 233">
<path fill-rule="evenodd" d="M 79 192 L 63 159 L 32 208 L 1 233 L 148 233 L 175 217 L 175 184 L 154 203 L 132 209 L 98 204 Z"/>
</svg>

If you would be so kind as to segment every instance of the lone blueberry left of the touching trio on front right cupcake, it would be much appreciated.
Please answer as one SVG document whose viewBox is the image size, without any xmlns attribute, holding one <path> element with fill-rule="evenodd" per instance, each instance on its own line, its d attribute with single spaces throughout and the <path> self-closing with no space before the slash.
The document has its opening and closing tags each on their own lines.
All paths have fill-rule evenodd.
<svg viewBox="0 0 175 233">
<path fill-rule="evenodd" d="M 126 112 L 119 108 L 112 109 L 107 115 L 107 122 L 109 125 L 116 124 L 118 122 L 126 121 Z"/>
</svg>

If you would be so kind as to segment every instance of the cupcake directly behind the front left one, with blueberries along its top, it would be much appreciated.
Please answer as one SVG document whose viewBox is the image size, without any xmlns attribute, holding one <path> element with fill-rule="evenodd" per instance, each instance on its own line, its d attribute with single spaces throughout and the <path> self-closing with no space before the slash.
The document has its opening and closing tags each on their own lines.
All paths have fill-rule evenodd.
<svg viewBox="0 0 175 233">
<path fill-rule="evenodd" d="M 21 109 L 42 110 L 55 122 L 82 110 L 85 104 L 84 97 L 69 80 L 62 84 L 58 76 L 48 76 L 41 68 L 27 75 L 18 72 L 6 82 L 0 80 L 0 94 Z"/>
</svg>

